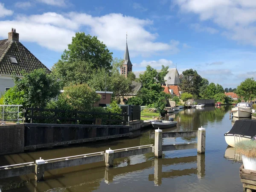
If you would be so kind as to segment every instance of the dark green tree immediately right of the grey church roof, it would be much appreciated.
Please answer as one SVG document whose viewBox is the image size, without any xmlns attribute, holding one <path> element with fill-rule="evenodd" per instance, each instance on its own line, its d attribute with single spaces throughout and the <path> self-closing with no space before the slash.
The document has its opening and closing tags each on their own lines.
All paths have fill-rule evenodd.
<svg viewBox="0 0 256 192">
<path fill-rule="evenodd" d="M 195 97 L 199 96 L 202 78 L 198 75 L 196 70 L 185 70 L 180 76 L 180 87 L 183 92 L 190 93 Z"/>
</svg>

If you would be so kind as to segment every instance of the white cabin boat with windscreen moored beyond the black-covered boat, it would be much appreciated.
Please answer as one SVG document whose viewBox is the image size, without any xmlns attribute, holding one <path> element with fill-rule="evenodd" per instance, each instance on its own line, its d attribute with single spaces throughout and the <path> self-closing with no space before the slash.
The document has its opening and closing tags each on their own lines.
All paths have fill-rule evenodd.
<svg viewBox="0 0 256 192">
<path fill-rule="evenodd" d="M 252 113 L 253 105 L 248 102 L 237 103 L 234 108 L 231 109 L 234 117 L 250 117 Z"/>
</svg>

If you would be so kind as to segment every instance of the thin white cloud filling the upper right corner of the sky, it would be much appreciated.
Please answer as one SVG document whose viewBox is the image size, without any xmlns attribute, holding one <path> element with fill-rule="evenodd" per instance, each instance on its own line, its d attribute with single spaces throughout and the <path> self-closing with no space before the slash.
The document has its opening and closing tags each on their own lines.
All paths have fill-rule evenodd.
<svg viewBox="0 0 256 192">
<path fill-rule="evenodd" d="M 186 13 L 222 27 L 227 38 L 256 46 L 255 0 L 175 0 Z M 209 31 L 210 32 L 210 31 Z"/>
</svg>

